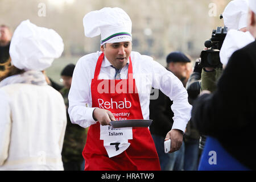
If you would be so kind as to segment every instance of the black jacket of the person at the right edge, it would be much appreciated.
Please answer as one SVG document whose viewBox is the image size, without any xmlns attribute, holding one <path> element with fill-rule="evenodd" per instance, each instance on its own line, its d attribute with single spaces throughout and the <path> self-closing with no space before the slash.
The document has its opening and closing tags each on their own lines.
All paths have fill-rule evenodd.
<svg viewBox="0 0 256 182">
<path fill-rule="evenodd" d="M 233 53 L 213 94 L 194 102 L 192 122 L 242 164 L 256 169 L 255 42 Z"/>
</svg>

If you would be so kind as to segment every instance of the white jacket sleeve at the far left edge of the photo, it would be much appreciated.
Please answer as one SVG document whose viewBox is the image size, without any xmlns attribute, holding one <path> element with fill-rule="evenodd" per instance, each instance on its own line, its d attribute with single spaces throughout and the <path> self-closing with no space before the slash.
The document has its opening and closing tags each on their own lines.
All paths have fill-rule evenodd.
<svg viewBox="0 0 256 182">
<path fill-rule="evenodd" d="M 11 135 L 11 109 L 9 97 L 0 90 L 0 166 L 8 158 Z"/>
</svg>

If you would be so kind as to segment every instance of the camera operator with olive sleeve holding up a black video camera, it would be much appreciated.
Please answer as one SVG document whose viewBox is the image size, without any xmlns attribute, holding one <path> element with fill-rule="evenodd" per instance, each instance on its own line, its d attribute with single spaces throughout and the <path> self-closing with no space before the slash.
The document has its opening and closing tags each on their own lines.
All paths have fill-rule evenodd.
<svg viewBox="0 0 256 182">
<path fill-rule="evenodd" d="M 216 83 L 223 70 L 219 52 L 225 39 L 226 32 L 227 27 L 217 27 L 217 29 L 212 32 L 212 38 L 205 42 L 205 47 L 207 48 L 201 52 L 201 58 L 196 62 L 194 72 L 187 83 L 188 94 L 194 97 L 194 99 L 199 95 L 201 90 L 209 90 L 210 92 L 216 90 Z M 192 102 L 190 104 L 192 104 Z M 202 150 L 204 150 L 205 140 L 206 136 L 200 134 L 200 154 Z"/>
</svg>

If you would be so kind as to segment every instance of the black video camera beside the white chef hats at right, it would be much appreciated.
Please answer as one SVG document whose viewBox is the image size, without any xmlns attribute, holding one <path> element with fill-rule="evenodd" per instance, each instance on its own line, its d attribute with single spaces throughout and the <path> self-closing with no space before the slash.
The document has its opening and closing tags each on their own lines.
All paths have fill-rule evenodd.
<svg viewBox="0 0 256 182">
<path fill-rule="evenodd" d="M 205 41 L 204 46 L 210 49 L 201 52 L 201 67 L 222 68 L 220 49 L 228 32 L 228 27 L 217 27 L 212 31 L 212 38 Z"/>
</svg>

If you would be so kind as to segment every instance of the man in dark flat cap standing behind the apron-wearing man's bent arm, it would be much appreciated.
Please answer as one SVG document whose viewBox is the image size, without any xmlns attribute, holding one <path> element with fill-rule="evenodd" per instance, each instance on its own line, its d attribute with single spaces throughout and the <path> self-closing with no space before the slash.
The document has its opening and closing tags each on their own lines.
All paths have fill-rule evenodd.
<svg viewBox="0 0 256 182">
<path fill-rule="evenodd" d="M 184 83 L 187 78 L 187 64 L 191 60 L 184 53 L 175 51 L 166 57 L 166 69 L 179 78 Z M 183 84 L 185 86 L 185 84 Z M 156 89 L 153 89 L 156 91 Z M 170 109 L 173 102 L 161 90 L 158 90 L 159 96 L 155 100 L 150 100 L 150 119 L 153 120 L 150 126 L 150 133 L 154 139 L 156 151 L 158 152 L 160 166 L 163 171 L 180 171 L 183 164 L 180 159 L 183 157 L 183 148 L 181 150 L 165 154 L 163 142 L 166 133 L 172 129 L 174 123 L 174 112 Z M 184 145 L 184 144 L 183 144 Z"/>
</svg>

